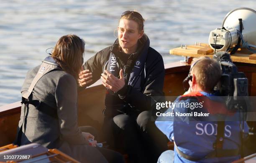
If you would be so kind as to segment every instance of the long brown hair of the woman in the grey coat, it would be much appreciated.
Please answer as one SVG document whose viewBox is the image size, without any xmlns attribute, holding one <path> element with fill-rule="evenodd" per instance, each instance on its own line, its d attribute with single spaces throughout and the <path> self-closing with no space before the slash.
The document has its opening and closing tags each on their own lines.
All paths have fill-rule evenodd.
<svg viewBox="0 0 256 163">
<path fill-rule="evenodd" d="M 84 40 L 76 35 L 62 36 L 51 55 L 59 66 L 76 80 L 82 68 L 84 45 Z"/>
</svg>

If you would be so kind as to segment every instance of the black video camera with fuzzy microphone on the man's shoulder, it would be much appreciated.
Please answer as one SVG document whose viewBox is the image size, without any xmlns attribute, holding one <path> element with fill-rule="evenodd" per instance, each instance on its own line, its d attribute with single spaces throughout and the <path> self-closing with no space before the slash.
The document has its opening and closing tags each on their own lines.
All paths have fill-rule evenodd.
<svg viewBox="0 0 256 163">
<path fill-rule="evenodd" d="M 248 97 L 248 78 L 243 72 L 238 72 L 237 66 L 225 51 L 215 53 L 213 59 L 220 63 L 222 75 L 220 83 L 215 87 L 220 96 L 225 96 L 229 110 L 246 112 L 246 97 Z"/>
</svg>

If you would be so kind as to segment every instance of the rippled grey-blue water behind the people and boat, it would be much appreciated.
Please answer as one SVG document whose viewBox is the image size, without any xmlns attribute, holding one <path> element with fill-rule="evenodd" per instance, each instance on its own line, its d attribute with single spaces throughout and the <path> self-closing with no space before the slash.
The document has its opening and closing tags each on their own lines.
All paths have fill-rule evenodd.
<svg viewBox="0 0 256 163">
<path fill-rule="evenodd" d="M 235 8 L 256 9 L 255 0 L 1 0 L 0 106 L 20 100 L 26 72 L 41 63 L 59 37 L 77 34 L 86 41 L 85 59 L 113 43 L 118 19 L 137 10 L 145 33 L 164 62 L 179 61 L 169 49 L 207 43 Z"/>
</svg>

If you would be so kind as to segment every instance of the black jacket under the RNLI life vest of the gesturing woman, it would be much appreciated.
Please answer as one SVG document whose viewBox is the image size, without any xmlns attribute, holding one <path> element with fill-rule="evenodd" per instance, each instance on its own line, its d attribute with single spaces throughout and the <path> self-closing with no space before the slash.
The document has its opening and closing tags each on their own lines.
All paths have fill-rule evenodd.
<svg viewBox="0 0 256 163">
<path fill-rule="evenodd" d="M 142 42 L 142 43 L 141 43 Z M 92 83 L 100 79 L 101 74 L 106 68 L 106 63 L 109 60 L 110 53 L 114 53 L 118 58 L 120 69 L 123 69 L 127 61 L 125 55 L 127 54 L 118 50 L 118 40 L 112 46 L 102 49 L 92 56 L 84 64 L 84 69 L 89 69 L 92 72 Z M 139 87 L 129 87 L 126 80 L 125 87 L 117 93 L 110 93 L 106 95 L 105 104 L 106 108 L 112 107 L 120 111 L 120 105 L 132 107 L 139 112 L 144 110 L 154 109 L 154 103 L 158 102 L 160 97 L 163 96 L 164 86 L 164 62 L 162 56 L 153 48 L 149 47 L 149 39 L 147 41 L 140 41 L 137 53 L 134 55 L 134 61 L 142 53 L 147 53 L 144 71 L 137 82 Z M 133 62 L 134 65 L 135 62 Z M 133 66 L 132 65 L 132 66 Z M 119 73 L 118 73 L 119 75 Z M 138 85 L 138 83 L 136 85 Z M 151 102 L 153 102 L 151 104 Z M 119 107 L 119 108 L 118 108 Z M 120 112 L 123 112 L 122 110 Z M 126 112 L 126 111 L 124 111 Z"/>
</svg>

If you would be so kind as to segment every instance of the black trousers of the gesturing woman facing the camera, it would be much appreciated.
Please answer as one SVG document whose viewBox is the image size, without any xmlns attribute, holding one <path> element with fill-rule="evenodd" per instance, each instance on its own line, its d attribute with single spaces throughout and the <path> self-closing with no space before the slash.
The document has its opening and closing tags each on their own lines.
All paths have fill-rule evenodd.
<svg viewBox="0 0 256 163">
<path fill-rule="evenodd" d="M 167 150 L 167 138 L 156 127 L 151 111 L 105 117 L 103 131 L 113 148 L 128 153 L 132 163 L 156 163 Z"/>
</svg>

